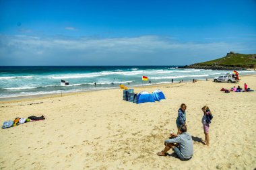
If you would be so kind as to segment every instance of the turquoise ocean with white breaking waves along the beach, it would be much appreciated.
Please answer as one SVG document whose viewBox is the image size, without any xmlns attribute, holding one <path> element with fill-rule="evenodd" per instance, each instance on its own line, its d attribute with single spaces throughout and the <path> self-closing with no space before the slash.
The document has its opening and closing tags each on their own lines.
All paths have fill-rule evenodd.
<svg viewBox="0 0 256 170">
<path fill-rule="evenodd" d="M 26 95 L 42 95 L 92 91 L 161 83 L 212 79 L 232 71 L 177 69 L 177 66 L 26 66 L 0 67 L 0 99 Z M 239 75 L 255 75 L 256 71 L 239 71 Z M 141 80 L 142 76 L 149 78 Z M 61 80 L 69 85 L 61 86 Z M 94 82 L 96 85 L 94 85 Z"/>
</svg>

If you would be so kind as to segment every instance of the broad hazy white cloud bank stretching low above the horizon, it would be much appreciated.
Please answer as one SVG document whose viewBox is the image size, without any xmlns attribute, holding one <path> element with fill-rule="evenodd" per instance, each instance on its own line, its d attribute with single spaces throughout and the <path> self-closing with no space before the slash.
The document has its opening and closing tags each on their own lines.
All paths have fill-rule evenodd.
<svg viewBox="0 0 256 170">
<path fill-rule="evenodd" d="M 230 50 L 256 50 L 255 44 L 178 42 L 160 36 L 15 37 L 0 36 L 0 59 L 4 65 L 187 65 L 224 56 Z"/>
</svg>

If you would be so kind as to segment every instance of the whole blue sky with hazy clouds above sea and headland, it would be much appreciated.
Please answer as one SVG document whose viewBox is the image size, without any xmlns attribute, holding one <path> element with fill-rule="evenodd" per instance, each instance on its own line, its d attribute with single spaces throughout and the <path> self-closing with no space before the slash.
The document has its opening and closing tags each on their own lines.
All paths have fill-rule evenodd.
<svg viewBox="0 0 256 170">
<path fill-rule="evenodd" d="M 256 53 L 256 0 L 0 0 L 0 65 L 190 65 Z"/>
</svg>

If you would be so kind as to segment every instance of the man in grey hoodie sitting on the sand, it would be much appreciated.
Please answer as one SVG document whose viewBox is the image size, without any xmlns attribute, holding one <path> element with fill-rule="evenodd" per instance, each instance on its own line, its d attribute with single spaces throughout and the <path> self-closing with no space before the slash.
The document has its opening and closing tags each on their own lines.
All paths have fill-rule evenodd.
<svg viewBox="0 0 256 170">
<path fill-rule="evenodd" d="M 177 157 L 179 157 L 179 159 L 181 159 L 181 161 L 191 159 L 193 155 L 193 140 L 187 133 L 187 127 L 185 125 L 181 125 L 179 131 L 179 135 L 170 134 L 174 138 L 164 140 L 164 151 L 157 153 L 158 156 L 166 156 L 166 152 L 172 148 L 174 153 L 177 155 Z"/>
</svg>

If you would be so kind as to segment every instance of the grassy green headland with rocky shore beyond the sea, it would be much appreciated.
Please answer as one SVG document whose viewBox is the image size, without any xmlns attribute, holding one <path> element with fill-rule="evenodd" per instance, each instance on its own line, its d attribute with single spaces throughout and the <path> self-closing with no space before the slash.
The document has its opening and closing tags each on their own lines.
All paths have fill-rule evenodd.
<svg viewBox="0 0 256 170">
<path fill-rule="evenodd" d="M 181 69 L 245 70 L 256 69 L 256 54 L 239 54 L 228 52 L 216 60 L 195 63 L 179 67 Z"/>
</svg>

